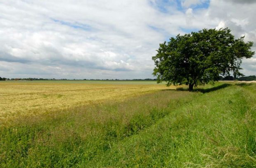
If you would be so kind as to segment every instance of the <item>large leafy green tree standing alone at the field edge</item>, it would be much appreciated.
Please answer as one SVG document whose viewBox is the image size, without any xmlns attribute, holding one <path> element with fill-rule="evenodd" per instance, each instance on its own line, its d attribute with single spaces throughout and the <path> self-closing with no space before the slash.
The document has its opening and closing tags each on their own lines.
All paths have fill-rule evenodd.
<svg viewBox="0 0 256 168">
<path fill-rule="evenodd" d="M 156 56 L 153 75 L 157 81 L 166 81 L 167 86 L 204 85 L 218 81 L 220 75 L 239 72 L 243 58 L 251 58 L 253 42 L 244 42 L 244 37 L 235 39 L 229 28 L 203 29 L 185 35 L 177 35 L 168 42 L 160 44 Z"/>
</svg>

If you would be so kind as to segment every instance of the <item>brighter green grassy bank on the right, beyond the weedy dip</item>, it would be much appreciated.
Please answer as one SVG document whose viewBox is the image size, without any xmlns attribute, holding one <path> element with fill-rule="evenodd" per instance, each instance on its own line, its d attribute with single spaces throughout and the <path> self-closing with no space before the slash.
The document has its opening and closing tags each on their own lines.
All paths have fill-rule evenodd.
<svg viewBox="0 0 256 168">
<path fill-rule="evenodd" d="M 256 85 L 230 86 L 184 104 L 88 167 L 256 167 Z"/>
</svg>

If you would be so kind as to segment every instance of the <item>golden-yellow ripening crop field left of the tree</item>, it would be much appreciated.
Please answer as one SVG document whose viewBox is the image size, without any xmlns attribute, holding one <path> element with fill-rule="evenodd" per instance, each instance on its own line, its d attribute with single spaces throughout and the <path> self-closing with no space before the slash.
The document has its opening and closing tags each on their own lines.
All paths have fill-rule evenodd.
<svg viewBox="0 0 256 168">
<path fill-rule="evenodd" d="M 126 97 L 166 89 L 165 85 L 156 85 L 155 82 L 118 83 L 1 82 L 0 119 L 18 115 L 37 115 L 45 111 L 67 109 L 108 99 L 122 100 Z"/>
</svg>

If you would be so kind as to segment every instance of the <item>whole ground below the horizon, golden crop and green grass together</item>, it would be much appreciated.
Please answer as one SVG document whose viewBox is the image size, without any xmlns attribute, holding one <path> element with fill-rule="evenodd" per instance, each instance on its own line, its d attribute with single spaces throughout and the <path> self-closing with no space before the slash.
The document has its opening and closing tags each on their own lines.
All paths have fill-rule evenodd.
<svg viewBox="0 0 256 168">
<path fill-rule="evenodd" d="M 0 86 L 1 168 L 256 167 L 256 83 Z"/>
</svg>

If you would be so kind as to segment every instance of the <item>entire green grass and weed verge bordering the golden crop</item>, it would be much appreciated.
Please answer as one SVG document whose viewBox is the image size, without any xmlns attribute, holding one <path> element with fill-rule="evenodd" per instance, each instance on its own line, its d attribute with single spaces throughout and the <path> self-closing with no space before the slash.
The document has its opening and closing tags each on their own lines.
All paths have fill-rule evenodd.
<svg viewBox="0 0 256 168">
<path fill-rule="evenodd" d="M 17 118 L 0 167 L 256 167 L 256 85 L 214 87 Z"/>
</svg>

